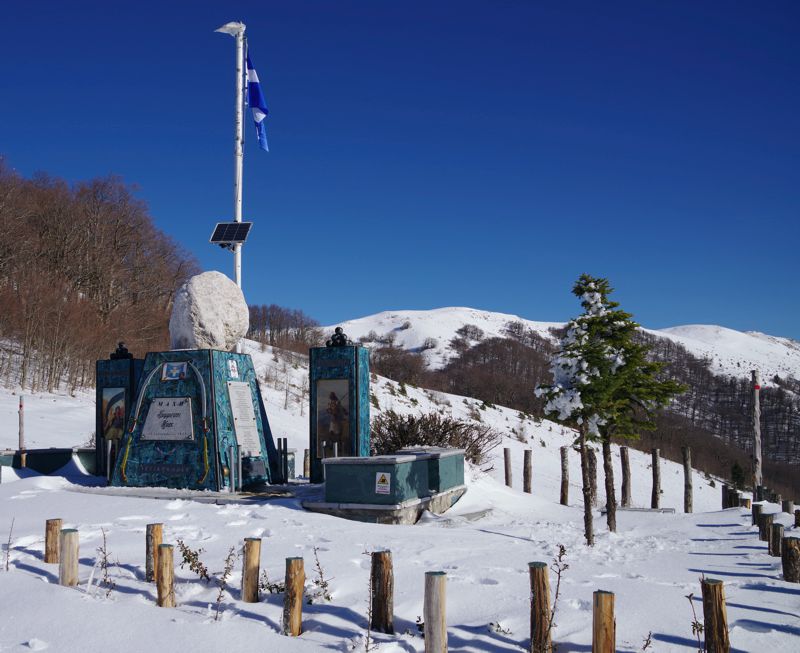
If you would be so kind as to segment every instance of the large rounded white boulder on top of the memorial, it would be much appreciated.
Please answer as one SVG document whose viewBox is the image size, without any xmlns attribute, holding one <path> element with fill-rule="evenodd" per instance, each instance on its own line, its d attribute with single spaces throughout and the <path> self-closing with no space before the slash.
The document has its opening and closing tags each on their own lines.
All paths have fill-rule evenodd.
<svg viewBox="0 0 800 653">
<path fill-rule="evenodd" d="M 249 324 L 241 288 L 221 272 L 203 272 L 175 293 L 169 337 L 172 349 L 232 351 Z"/>
</svg>

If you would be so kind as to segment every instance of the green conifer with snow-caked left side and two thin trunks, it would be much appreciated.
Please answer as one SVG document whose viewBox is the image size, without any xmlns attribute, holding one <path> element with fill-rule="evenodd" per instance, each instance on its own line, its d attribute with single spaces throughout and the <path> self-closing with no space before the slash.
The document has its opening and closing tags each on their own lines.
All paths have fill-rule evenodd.
<svg viewBox="0 0 800 653">
<path fill-rule="evenodd" d="M 652 430 L 653 411 L 665 406 L 683 386 L 659 380 L 661 364 L 647 360 L 647 347 L 634 338 L 632 315 L 608 299 L 607 279 L 582 274 L 572 289 L 583 313 L 567 325 L 567 333 L 551 364 L 553 383 L 539 385 L 545 413 L 578 429 L 581 456 L 586 543 L 594 544 L 587 443 L 603 448 L 606 510 L 609 530 L 616 530 L 611 438 L 636 438 Z"/>
</svg>

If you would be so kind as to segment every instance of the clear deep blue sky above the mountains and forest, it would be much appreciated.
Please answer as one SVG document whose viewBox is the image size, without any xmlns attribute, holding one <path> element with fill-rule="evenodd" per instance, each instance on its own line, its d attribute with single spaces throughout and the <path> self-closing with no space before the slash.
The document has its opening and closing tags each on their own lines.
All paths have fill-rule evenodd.
<svg viewBox="0 0 800 653">
<path fill-rule="evenodd" d="M 223 7 L 224 4 L 224 7 Z M 800 3 L 7 3 L 0 154 L 138 186 L 205 269 L 232 215 L 250 303 L 326 324 L 466 305 L 566 320 L 582 272 L 642 324 L 800 339 Z"/>
</svg>

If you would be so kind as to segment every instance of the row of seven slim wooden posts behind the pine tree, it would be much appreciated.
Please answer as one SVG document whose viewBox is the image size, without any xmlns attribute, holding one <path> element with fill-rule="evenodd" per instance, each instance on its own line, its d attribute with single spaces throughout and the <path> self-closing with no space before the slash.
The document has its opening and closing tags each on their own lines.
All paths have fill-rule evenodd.
<svg viewBox="0 0 800 653">
<path fill-rule="evenodd" d="M 569 505 L 569 450 L 570 447 L 561 447 L 561 505 Z M 682 447 L 683 453 L 683 511 L 692 512 L 692 451 L 689 447 Z M 589 477 L 592 483 L 592 496 L 597 499 L 597 454 L 589 447 Z M 619 448 L 622 462 L 622 487 L 620 488 L 620 504 L 623 508 L 631 507 L 631 464 L 628 457 L 628 447 Z M 653 485 L 650 493 L 650 507 L 661 508 L 661 452 L 659 449 L 651 451 Z M 525 449 L 522 465 L 522 490 L 531 493 L 532 489 L 532 459 L 533 451 Z M 505 481 L 508 487 L 512 486 L 511 449 L 503 449 L 503 462 L 505 463 Z"/>
</svg>

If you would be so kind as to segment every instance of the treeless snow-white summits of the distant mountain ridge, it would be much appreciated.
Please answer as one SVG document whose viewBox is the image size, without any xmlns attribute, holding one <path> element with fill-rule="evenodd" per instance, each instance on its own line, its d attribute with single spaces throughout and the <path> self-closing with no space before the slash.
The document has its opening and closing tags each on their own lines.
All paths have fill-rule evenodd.
<svg viewBox="0 0 800 653">
<path fill-rule="evenodd" d="M 510 323 L 520 322 L 543 338 L 556 343 L 553 329 L 563 322 L 529 320 L 517 315 L 453 306 L 432 310 L 383 311 L 339 325 L 352 340 L 362 340 L 367 347 L 380 344 L 387 336 L 404 349 L 419 351 L 433 369 L 444 367 L 454 356 L 449 346 L 456 332 L 473 325 L 483 338 L 507 337 Z M 326 327 L 326 332 L 333 326 Z M 748 377 L 750 370 L 761 373 L 762 382 L 770 384 L 777 374 L 800 379 L 800 342 L 758 331 L 737 331 L 717 325 L 693 324 L 665 329 L 647 329 L 646 333 L 668 338 L 685 347 L 698 358 L 708 359 L 711 371 L 718 375 Z"/>
</svg>

